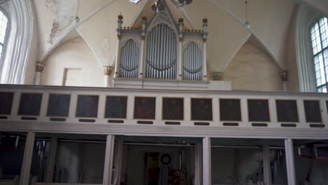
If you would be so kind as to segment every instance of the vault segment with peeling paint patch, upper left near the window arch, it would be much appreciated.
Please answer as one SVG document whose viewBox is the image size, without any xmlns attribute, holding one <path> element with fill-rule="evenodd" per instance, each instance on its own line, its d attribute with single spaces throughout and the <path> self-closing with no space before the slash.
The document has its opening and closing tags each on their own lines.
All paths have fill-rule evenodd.
<svg viewBox="0 0 328 185">
<path fill-rule="evenodd" d="M 78 0 L 46 0 L 45 6 L 53 16 L 53 27 L 48 39 L 52 44 L 74 22 L 78 11 Z"/>
</svg>

